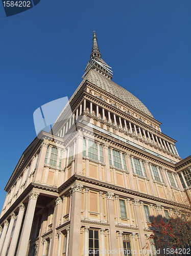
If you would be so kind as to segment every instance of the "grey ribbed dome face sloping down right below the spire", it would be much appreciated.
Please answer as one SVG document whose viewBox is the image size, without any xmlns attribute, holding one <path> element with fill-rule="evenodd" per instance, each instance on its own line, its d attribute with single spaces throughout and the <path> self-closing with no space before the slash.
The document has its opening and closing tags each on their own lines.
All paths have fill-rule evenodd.
<svg viewBox="0 0 191 256">
<path fill-rule="evenodd" d="M 144 112 L 150 117 L 153 117 L 151 112 L 146 108 L 146 106 L 137 99 L 132 93 L 128 92 L 123 87 L 119 86 L 117 83 L 106 78 L 97 71 L 90 69 L 85 77 L 85 80 L 95 84 L 106 92 L 114 95 L 115 97 L 127 102 L 128 104 L 134 106 L 134 108 Z"/>
</svg>

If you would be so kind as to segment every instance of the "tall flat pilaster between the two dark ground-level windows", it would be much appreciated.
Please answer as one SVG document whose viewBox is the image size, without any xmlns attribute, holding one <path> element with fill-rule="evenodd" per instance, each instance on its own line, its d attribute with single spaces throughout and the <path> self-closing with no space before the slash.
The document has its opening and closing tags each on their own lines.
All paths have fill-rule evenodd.
<svg viewBox="0 0 191 256">
<path fill-rule="evenodd" d="M 110 233 L 110 241 L 111 241 L 111 250 L 117 250 L 117 240 L 116 240 L 116 229 L 115 229 L 115 219 L 114 219 L 114 208 L 113 208 L 113 193 L 107 192 L 107 214 L 109 217 L 109 228 L 112 230 Z M 115 254 L 114 254 L 115 255 Z"/>
</svg>

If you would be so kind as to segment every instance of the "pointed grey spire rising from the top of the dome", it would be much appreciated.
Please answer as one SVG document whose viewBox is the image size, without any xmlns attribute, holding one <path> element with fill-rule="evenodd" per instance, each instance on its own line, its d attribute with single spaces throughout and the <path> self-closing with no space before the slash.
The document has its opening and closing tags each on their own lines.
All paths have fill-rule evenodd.
<svg viewBox="0 0 191 256">
<path fill-rule="evenodd" d="M 113 72 L 111 71 L 111 67 L 109 67 L 107 63 L 102 59 L 95 31 L 93 31 L 93 44 L 90 60 L 87 63 L 85 73 L 83 74 L 82 78 L 84 78 L 91 69 L 97 71 L 108 79 L 112 79 Z"/>
</svg>

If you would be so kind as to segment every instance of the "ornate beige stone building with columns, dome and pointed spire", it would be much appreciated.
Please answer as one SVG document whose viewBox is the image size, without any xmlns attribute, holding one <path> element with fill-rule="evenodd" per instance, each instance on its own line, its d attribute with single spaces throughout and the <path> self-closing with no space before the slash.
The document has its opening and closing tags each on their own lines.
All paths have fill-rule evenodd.
<svg viewBox="0 0 191 256">
<path fill-rule="evenodd" d="M 145 255 L 151 221 L 190 199 L 191 156 L 160 124 L 112 81 L 93 32 L 82 82 L 5 187 L 1 256 Z"/>
</svg>

